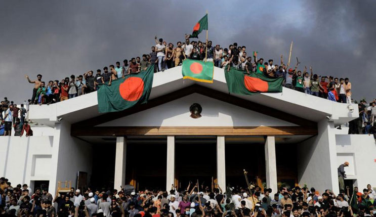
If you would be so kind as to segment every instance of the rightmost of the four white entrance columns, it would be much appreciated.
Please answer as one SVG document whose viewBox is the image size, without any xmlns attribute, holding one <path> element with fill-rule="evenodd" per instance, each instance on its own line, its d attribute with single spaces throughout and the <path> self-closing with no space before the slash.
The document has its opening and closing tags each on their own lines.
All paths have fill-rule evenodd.
<svg viewBox="0 0 376 217">
<path fill-rule="evenodd" d="M 277 163 L 275 159 L 275 137 L 266 137 L 265 140 L 265 166 L 266 166 L 266 187 L 277 192 Z"/>
</svg>

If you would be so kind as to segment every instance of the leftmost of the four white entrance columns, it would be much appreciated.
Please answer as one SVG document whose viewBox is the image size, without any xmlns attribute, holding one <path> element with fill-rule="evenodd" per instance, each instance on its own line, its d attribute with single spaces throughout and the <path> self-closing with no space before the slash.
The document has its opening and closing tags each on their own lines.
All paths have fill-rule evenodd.
<svg viewBox="0 0 376 217">
<path fill-rule="evenodd" d="M 127 142 L 124 137 L 116 137 L 115 151 L 115 179 L 113 188 L 120 190 L 120 186 L 126 184 L 126 160 L 127 160 Z"/>
</svg>

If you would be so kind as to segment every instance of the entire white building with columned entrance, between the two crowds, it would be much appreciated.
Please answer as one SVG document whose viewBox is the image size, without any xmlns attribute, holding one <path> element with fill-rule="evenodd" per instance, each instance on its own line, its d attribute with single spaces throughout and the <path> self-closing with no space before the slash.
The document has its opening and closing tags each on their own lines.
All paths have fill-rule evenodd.
<svg viewBox="0 0 376 217">
<path fill-rule="evenodd" d="M 202 107 L 200 118 L 189 107 Z M 33 137 L 0 137 L 0 176 L 12 185 L 58 181 L 76 187 L 132 184 L 140 190 L 189 180 L 210 185 L 245 185 L 248 178 L 277 189 L 277 183 L 307 184 L 339 192 L 337 167 L 346 185 L 376 185 L 372 136 L 344 135 L 336 126 L 358 116 L 341 104 L 283 88 L 282 93 L 228 93 L 224 72 L 214 83 L 183 80 L 181 67 L 154 74 L 147 104 L 98 113 L 97 93 L 51 105 L 31 105 L 38 123 Z M 83 174 L 83 175 L 82 175 Z M 87 180 L 85 180 L 87 178 Z"/>
</svg>

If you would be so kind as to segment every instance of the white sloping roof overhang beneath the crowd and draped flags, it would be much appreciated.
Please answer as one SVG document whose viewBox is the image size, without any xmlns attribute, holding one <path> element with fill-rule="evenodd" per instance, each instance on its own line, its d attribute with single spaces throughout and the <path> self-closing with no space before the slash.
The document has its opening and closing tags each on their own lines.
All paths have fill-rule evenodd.
<svg viewBox="0 0 376 217">
<path fill-rule="evenodd" d="M 261 93 L 256 95 L 229 94 L 224 70 L 221 68 L 215 67 L 213 83 L 183 79 L 181 70 L 182 67 L 178 66 L 164 72 L 155 73 L 149 100 L 196 84 L 195 86 L 198 89 L 199 86 L 202 86 L 227 94 L 229 98 L 236 96 L 237 98 L 314 122 L 327 118 L 329 121 L 333 121 L 335 125 L 340 125 L 358 117 L 357 106 L 353 106 L 353 111 L 351 112 L 348 104 L 329 101 L 287 88 L 283 88 L 282 93 Z M 76 123 L 103 115 L 98 112 L 96 92 L 50 105 L 30 105 L 29 110 L 29 119 L 48 126 L 54 126 L 56 122 L 61 120 Z"/>
</svg>

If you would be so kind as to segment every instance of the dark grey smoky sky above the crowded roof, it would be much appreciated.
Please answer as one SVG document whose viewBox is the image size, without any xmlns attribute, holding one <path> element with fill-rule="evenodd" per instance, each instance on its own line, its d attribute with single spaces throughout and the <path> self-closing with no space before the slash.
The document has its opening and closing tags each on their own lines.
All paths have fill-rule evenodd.
<svg viewBox="0 0 376 217">
<path fill-rule="evenodd" d="M 0 0 L 0 98 L 30 99 L 24 78 L 61 79 L 176 45 L 208 10 L 209 38 L 264 59 L 296 57 L 314 73 L 349 77 L 353 98 L 376 97 L 376 1 Z M 205 33 L 199 36 L 204 40 Z"/>
</svg>

